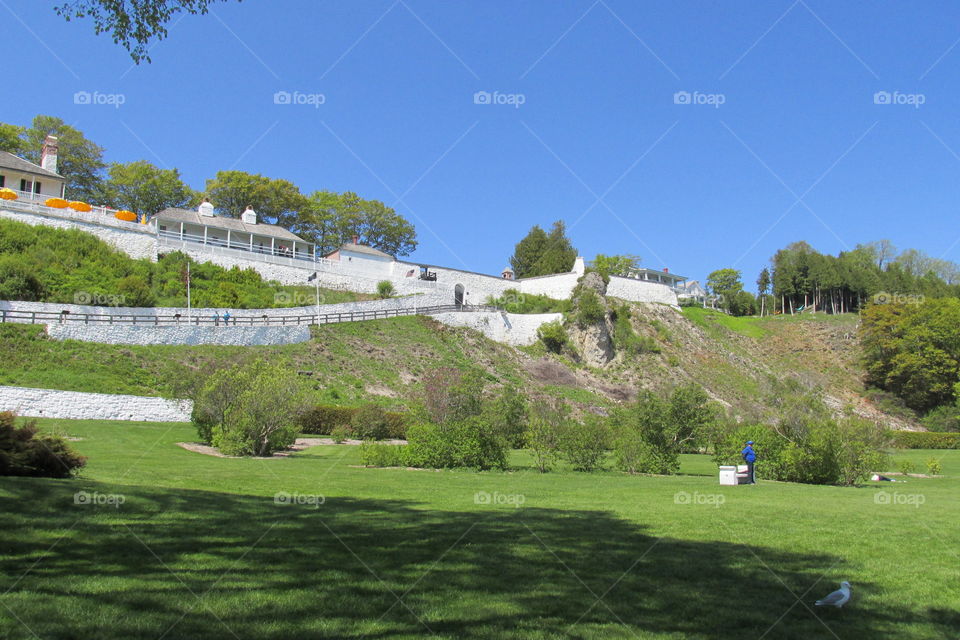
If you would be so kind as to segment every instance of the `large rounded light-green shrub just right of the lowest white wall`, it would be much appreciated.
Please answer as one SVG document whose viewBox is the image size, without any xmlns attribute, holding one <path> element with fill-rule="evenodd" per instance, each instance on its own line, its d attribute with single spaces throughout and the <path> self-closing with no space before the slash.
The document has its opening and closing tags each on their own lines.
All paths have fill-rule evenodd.
<svg viewBox="0 0 960 640">
<path fill-rule="evenodd" d="M 194 412 L 207 421 L 198 432 L 212 424 L 211 442 L 226 455 L 267 456 L 290 446 L 303 406 L 297 375 L 263 360 L 218 372 L 194 398 Z"/>
</svg>

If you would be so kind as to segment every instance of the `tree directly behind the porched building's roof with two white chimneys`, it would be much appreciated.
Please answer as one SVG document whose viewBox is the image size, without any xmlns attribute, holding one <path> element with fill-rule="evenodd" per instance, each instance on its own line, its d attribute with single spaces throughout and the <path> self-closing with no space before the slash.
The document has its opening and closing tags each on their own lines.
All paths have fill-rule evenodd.
<svg viewBox="0 0 960 640">
<path fill-rule="evenodd" d="M 239 217 L 250 205 L 260 220 L 271 223 L 279 223 L 306 204 L 292 182 L 245 171 L 218 171 L 207 180 L 207 197 L 222 215 Z"/>
</svg>

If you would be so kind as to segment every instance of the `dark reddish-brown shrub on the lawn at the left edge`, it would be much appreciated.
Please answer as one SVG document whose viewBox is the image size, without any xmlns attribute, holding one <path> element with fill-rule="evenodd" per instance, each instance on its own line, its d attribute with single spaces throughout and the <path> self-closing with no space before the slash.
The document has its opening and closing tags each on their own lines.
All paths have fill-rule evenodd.
<svg viewBox="0 0 960 640">
<path fill-rule="evenodd" d="M 38 433 L 37 421 L 16 426 L 17 415 L 0 412 L 0 476 L 69 478 L 87 459 L 55 435 Z"/>
</svg>

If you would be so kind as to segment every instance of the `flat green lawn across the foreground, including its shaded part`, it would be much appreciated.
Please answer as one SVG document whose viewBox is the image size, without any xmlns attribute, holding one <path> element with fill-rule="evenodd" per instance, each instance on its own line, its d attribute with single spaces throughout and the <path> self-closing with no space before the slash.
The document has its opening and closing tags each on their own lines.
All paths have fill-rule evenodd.
<svg viewBox="0 0 960 640">
<path fill-rule="evenodd" d="M 506 473 L 363 469 L 348 446 L 219 459 L 174 444 L 194 439 L 189 425 L 42 424 L 81 438 L 89 464 L 77 480 L 0 479 L 4 639 L 940 639 L 960 627 L 958 451 L 898 454 L 943 457 L 944 477 L 905 484 L 721 488 L 704 456 L 668 478 L 540 475 L 520 452 Z M 80 491 L 100 504 L 75 504 Z M 477 503 L 487 496 L 501 504 Z M 808 609 L 844 579 L 847 608 Z"/>
</svg>

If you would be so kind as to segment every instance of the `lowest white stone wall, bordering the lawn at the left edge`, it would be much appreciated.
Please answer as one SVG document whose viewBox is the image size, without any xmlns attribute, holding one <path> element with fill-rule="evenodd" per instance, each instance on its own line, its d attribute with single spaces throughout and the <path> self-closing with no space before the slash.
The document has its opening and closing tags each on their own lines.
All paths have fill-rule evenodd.
<svg viewBox="0 0 960 640">
<path fill-rule="evenodd" d="M 190 422 L 192 410 L 190 400 L 0 387 L 0 411 L 37 418 Z"/>
</svg>

